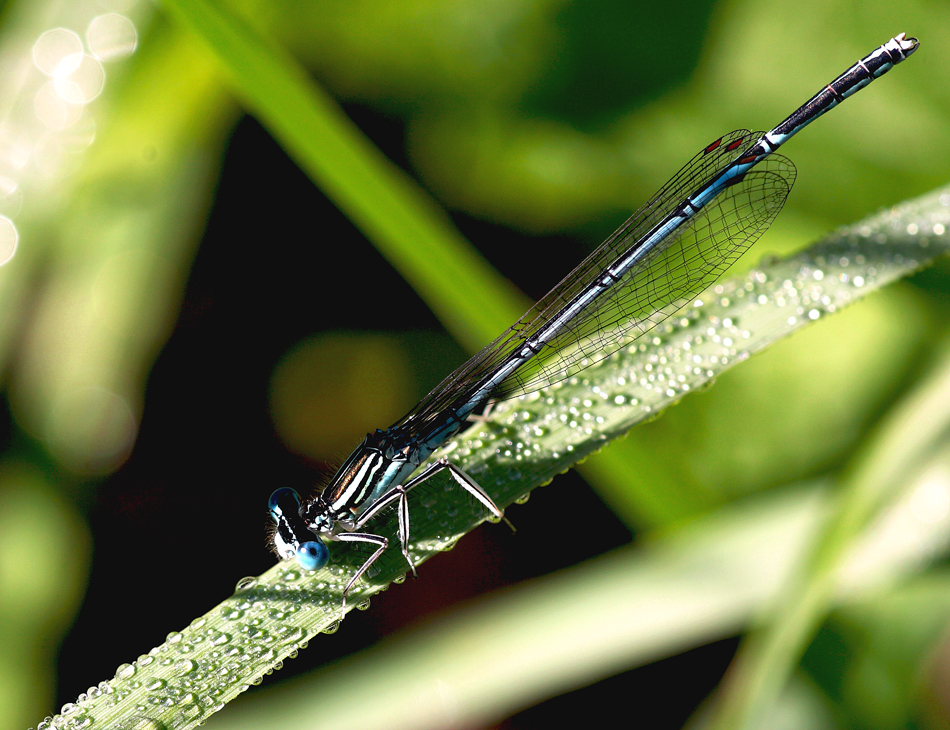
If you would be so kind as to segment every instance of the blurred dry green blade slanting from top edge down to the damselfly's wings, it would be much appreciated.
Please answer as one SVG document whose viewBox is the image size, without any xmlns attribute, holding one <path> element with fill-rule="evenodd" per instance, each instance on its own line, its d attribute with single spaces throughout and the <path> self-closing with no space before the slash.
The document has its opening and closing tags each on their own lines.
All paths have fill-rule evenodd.
<svg viewBox="0 0 950 730">
<path fill-rule="evenodd" d="M 248 111 L 460 342 L 478 349 L 527 309 L 527 302 L 465 241 L 445 212 L 362 135 L 283 49 L 221 5 L 167 0 L 164 7 L 211 48 Z M 313 239 L 315 245 L 320 241 L 317 227 Z"/>
</svg>

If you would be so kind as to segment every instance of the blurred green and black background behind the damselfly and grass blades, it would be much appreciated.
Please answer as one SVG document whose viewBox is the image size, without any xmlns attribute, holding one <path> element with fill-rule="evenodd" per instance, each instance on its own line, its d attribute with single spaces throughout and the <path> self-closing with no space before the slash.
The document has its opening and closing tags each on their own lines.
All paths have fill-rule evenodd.
<svg viewBox="0 0 950 730">
<path fill-rule="evenodd" d="M 796 187 L 738 267 L 950 177 L 950 8 L 933 2 L 227 6 L 305 64 L 525 302 L 703 145 L 772 126 L 900 31 L 921 50 L 789 144 Z M 94 53 L 91 24 L 110 13 L 134 26 L 134 54 L 121 34 Z M 106 72 L 59 122 L 37 106 L 47 81 L 31 52 L 55 28 Z M 13 728 L 265 569 L 270 491 L 306 490 L 484 338 L 444 328 L 160 9 L 8 0 L 0 32 L 0 176 L 15 183 L 0 186 L 0 213 L 19 232 L 0 269 L 0 718 Z M 834 475 L 947 347 L 948 273 L 941 263 L 730 371 L 591 459 L 587 481 L 563 476 L 511 510 L 517 535 L 479 530 L 274 679 Z M 574 539 L 578 514 L 589 527 Z M 790 690 L 788 727 L 950 726 L 948 595 L 938 567 L 835 613 Z M 735 646 L 620 666 L 501 724 L 596 708 L 680 727 Z"/>
</svg>

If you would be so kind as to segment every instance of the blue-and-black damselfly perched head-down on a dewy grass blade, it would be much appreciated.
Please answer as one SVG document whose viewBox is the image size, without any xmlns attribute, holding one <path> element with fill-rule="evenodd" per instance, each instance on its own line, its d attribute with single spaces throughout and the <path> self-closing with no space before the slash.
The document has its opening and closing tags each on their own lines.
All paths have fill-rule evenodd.
<svg viewBox="0 0 950 730">
<path fill-rule="evenodd" d="M 778 215 L 795 166 L 774 154 L 792 135 L 917 49 L 901 33 L 857 62 L 770 132 L 720 137 L 667 182 L 610 238 L 501 337 L 458 368 L 398 423 L 369 434 L 330 483 L 302 504 L 292 489 L 271 495 L 273 546 L 308 570 L 326 564 L 324 540 L 368 543 L 373 553 L 353 585 L 389 546 L 363 528 L 396 504 L 409 567 L 407 494 L 445 471 L 485 509 L 491 497 L 440 459 L 416 474 L 439 446 L 489 401 L 540 390 L 635 342 L 715 281 Z M 753 169 L 755 168 L 755 169 Z"/>
</svg>

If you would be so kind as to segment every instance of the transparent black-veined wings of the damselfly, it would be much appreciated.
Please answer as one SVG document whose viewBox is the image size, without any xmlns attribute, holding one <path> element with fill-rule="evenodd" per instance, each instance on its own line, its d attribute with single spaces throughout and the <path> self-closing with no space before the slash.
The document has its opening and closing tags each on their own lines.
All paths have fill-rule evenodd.
<svg viewBox="0 0 950 730">
<path fill-rule="evenodd" d="M 697 190 L 745 153 L 761 133 L 737 130 L 704 148 L 597 250 L 504 334 L 449 375 L 400 422 L 424 428 L 467 401 L 525 342 Z M 768 228 L 795 180 L 780 155 L 759 163 L 684 223 L 492 391 L 503 400 L 574 375 L 650 332 L 725 271 Z"/>
</svg>

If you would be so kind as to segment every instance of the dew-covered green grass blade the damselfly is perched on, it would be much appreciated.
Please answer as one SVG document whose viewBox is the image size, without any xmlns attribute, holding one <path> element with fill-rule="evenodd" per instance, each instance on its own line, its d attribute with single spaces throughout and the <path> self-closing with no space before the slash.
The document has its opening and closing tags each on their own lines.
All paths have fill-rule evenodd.
<svg viewBox="0 0 950 730">
<path fill-rule="evenodd" d="M 946 195 L 937 191 L 892 208 L 797 256 L 769 260 L 748 276 L 716 285 L 649 343 L 621 350 L 583 377 L 537 396 L 499 404 L 489 422 L 473 426 L 439 455 L 475 477 L 499 504 L 525 497 L 752 352 L 947 251 Z M 914 234 L 907 232 L 908 222 Z M 889 463 L 899 470 L 908 461 Z M 410 549 L 417 564 L 451 547 L 485 517 L 460 490 L 442 487 L 427 483 L 414 492 Z M 861 516 L 863 523 L 865 512 Z M 381 515 L 373 529 L 395 537 L 394 515 Z M 342 589 L 365 556 L 358 546 L 334 545 L 332 552 L 331 565 L 315 574 L 279 564 L 242 583 L 232 598 L 120 668 L 56 726 L 148 722 L 184 730 L 205 720 L 318 633 L 335 629 Z M 406 569 L 398 549 L 390 550 L 358 584 L 350 607 L 401 580 Z"/>
</svg>

